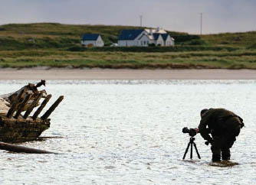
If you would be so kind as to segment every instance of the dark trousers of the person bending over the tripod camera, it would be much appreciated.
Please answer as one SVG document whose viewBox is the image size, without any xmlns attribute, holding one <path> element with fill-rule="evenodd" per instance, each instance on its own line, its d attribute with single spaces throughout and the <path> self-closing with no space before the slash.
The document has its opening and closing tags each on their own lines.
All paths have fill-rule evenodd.
<svg viewBox="0 0 256 185">
<path fill-rule="evenodd" d="M 230 148 L 233 146 L 236 137 L 240 133 L 240 125 L 222 131 L 220 135 L 212 134 L 212 161 L 229 160 L 231 157 Z"/>
</svg>

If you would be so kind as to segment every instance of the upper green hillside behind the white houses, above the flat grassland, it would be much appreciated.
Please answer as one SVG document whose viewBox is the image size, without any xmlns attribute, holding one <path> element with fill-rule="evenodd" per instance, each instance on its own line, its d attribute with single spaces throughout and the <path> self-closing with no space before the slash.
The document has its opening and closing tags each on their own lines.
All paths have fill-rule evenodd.
<svg viewBox="0 0 256 185">
<path fill-rule="evenodd" d="M 28 48 L 64 49 L 80 45 L 83 34 L 100 34 L 105 45 L 117 42 L 123 29 L 139 29 L 132 26 L 72 25 L 57 23 L 5 24 L 0 26 L 0 50 L 22 50 Z M 176 45 L 203 45 L 205 47 L 251 47 L 256 43 L 256 31 L 191 35 L 168 31 Z"/>
</svg>

